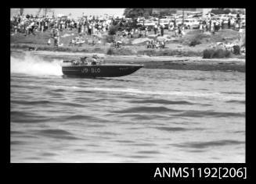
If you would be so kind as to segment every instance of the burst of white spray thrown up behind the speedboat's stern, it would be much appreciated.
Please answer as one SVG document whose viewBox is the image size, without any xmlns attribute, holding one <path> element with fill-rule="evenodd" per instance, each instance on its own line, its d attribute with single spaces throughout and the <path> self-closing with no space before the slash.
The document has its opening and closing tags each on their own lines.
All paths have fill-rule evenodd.
<svg viewBox="0 0 256 184">
<path fill-rule="evenodd" d="M 11 56 L 11 73 L 24 73 L 33 76 L 62 76 L 59 60 L 53 62 L 26 54 L 24 58 Z"/>
</svg>

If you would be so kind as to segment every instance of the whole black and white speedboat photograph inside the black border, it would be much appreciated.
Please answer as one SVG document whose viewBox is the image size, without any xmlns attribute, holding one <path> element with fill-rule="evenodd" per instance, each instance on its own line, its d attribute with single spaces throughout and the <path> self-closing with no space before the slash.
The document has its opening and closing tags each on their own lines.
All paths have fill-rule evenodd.
<svg viewBox="0 0 256 184">
<path fill-rule="evenodd" d="M 245 33 L 244 8 L 11 8 L 10 162 L 245 163 Z"/>
</svg>

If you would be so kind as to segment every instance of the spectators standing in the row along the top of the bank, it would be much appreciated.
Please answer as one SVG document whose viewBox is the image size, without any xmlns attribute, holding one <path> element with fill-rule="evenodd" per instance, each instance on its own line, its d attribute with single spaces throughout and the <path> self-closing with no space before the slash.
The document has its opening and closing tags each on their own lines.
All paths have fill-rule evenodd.
<svg viewBox="0 0 256 184">
<path fill-rule="evenodd" d="M 204 18 L 198 19 L 199 28 L 202 31 L 211 31 L 215 32 L 224 28 L 233 28 L 239 30 L 242 25 L 240 14 L 238 13 L 236 17 L 228 15 L 225 17 L 215 17 L 207 16 Z M 52 30 L 52 28 L 62 30 L 73 30 L 77 29 L 78 34 L 99 34 L 101 32 L 106 32 L 110 29 L 110 25 L 119 24 L 120 27 L 125 27 L 122 32 L 124 37 L 132 37 L 135 33 L 131 27 L 135 27 L 136 22 L 132 22 L 131 19 L 103 19 L 95 16 L 82 16 L 79 19 L 71 19 L 67 16 L 54 17 L 54 16 L 33 16 L 33 15 L 23 15 L 23 16 L 13 16 L 11 19 L 11 30 L 14 33 L 24 33 L 24 34 L 35 34 L 36 31 L 44 32 L 46 30 Z M 226 24 L 226 26 L 225 26 Z M 187 28 L 186 24 L 178 23 L 176 19 L 170 19 L 168 30 L 178 30 Z M 138 27 L 136 27 L 138 28 Z M 132 31 L 133 30 L 133 31 Z M 146 35 L 149 28 L 148 27 L 139 27 L 139 35 Z M 151 29 L 150 29 L 151 30 Z M 153 26 L 154 34 L 164 35 L 164 26 L 160 23 L 155 23 Z"/>
</svg>

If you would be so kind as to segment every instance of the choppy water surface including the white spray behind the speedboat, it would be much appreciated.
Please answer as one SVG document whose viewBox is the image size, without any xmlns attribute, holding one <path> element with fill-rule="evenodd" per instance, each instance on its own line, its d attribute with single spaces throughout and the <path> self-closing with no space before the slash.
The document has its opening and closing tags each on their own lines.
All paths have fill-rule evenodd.
<svg viewBox="0 0 256 184">
<path fill-rule="evenodd" d="M 61 75 L 11 57 L 11 162 L 245 161 L 245 73 Z"/>
</svg>

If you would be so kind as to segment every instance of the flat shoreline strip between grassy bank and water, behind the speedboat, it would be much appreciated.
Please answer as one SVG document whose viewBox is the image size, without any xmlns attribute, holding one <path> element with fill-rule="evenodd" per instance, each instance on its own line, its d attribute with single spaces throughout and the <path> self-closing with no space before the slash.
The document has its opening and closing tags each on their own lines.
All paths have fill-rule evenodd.
<svg viewBox="0 0 256 184">
<path fill-rule="evenodd" d="M 104 62 L 135 63 L 145 69 L 182 69 L 201 71 L 236 71 L 245 73 L 245 58 L 201 58 L 197 56 L 148 56 L 148 55 L 106 55 L 101 53 L 82 53 L 67 51 L 24 51 L 11 48 L 11 53 L 30 53 L 49 61 L 53 59 L 78 59 L 93 54 L 104 58 Z"/>
</svg>

